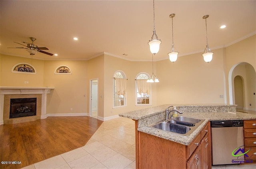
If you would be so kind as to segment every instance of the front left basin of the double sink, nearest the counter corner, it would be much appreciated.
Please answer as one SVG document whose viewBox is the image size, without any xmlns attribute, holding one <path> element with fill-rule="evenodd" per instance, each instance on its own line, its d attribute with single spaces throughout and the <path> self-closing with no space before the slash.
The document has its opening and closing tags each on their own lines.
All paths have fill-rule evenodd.
<svg viewBox="0 0 256 169">
<path fill-rule="evenodd" d="M 159 122 L 159 123 L 156 123 L 155 125 L 152 125 L 152 127 L 161 129 L 164 131 L 172 131 L 180 134 L 185 134 L 185 133 L 188 133 L 188 131 L 190 131 L 190 127 L 175 124 L 175 123 L 168 123 L 168 122 Z"/>
</svg>

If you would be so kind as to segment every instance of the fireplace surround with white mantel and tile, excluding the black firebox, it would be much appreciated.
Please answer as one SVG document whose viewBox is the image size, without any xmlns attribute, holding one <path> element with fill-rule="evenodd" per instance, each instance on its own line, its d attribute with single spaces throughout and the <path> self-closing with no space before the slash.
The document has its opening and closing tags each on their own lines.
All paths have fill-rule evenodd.
<svg viewBox="0 0 256 169">
<path fill-rule="evenodd" d="M 47 94 L 54 87 L 0 87 L 0 125 L 46 118 Z M 36 115 L 10 118 L 10 101 L 14 98 L 36 98 Z"/>
</svg>

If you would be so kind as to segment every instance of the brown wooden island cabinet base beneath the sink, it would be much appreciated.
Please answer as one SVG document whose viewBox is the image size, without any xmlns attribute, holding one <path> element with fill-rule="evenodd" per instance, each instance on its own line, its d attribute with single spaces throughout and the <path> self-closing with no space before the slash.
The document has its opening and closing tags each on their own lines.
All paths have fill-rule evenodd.
<svg viewBox="0 0 256 169">
<path fill-rule="evenodd" d="M 136 169 L 210 169 L 210 122 L 190 145 L 183 145 L 154 135 L 136 133 Z"/>
</svg>

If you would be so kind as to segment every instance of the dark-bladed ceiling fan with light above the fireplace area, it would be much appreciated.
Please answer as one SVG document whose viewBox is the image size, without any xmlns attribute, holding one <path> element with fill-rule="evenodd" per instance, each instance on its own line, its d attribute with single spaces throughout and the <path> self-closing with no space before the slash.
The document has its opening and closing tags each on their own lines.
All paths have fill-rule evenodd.
<svg viewBox="0 0 256 169">
<path fill-rule="evenodd" d="M 34 41 L 36 40 L 36 38 L 32 38 L 32 37 L 29 37 L 29 38 L 32 41 L 32 43 L 22 42 L 22 43 L 27 44 L 27 45 L 20 44 L 18 42 L 14 42 L 16 44 L 20 44 L 22 46 L 26 46 L 26 48 L 24 48 L 24 47 L 15 47 L 15 48 L 17 48 L 17 49 L 27 49 L 27 51 L 29 52 L 30 55 L 35 55 L 37 52 L 41 52 L 43 54 L 47 54 L 47 55 L 50 55 L 50 56 L 53 55 L 51 53 L 43 51 L 43 50 L 49 50 L 48 48 L 46 48 L 46 47 L 38 47 L 38 46 L 34 45 Z"/>
</svg>

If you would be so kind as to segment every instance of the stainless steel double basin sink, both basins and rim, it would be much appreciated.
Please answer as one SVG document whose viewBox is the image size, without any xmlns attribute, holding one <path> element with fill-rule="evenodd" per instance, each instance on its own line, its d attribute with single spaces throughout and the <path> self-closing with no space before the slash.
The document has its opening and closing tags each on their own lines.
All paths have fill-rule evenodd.
<svg viewBox="0 0 256 169">
<path fill-rule="evenodd" d="M 161 120 L 156 123 L 151 124 L 149 127 L 168 131 L 178 135 L 187 137 L 190 135 L 202 122 L 204 119 L 196 119 L 192 117 L 178 116 L 173 119 L 168 119 L 167 121 Z"/>
</svg>

